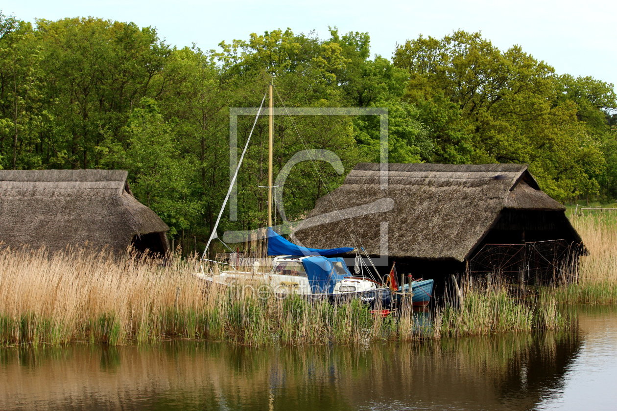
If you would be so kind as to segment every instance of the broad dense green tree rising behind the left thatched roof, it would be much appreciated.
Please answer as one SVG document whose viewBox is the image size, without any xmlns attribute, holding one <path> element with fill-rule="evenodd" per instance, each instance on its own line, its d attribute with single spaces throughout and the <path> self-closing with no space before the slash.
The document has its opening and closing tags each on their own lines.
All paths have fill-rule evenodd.
<svg viewBox="0 0 617 411">
<path fill-rule="evenodd" d="M 43 132 L 47 163 L 59 168 L 102 166 L 106 136 L 121 138 L 128 114 L 155 96 L 168 47 L 152 28 L 100 18 L 38 20 L 46 107 L 54 117 Z"/>
</svg>

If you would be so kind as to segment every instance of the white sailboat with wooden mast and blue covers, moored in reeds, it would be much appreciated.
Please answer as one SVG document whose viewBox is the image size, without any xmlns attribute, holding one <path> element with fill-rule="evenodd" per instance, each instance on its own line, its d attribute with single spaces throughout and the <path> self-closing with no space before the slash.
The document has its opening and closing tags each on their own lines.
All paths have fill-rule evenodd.
<svg viewBox="0 0 617 411">
<path fill-rule="evenodd" d="M 217 236 L 217 226 L 225 210 L 226 203 L 230 197 L 231 189 L 238 177 L 244 154 L 251 140 L 252 131 L 255 128 L 257 119 L 262 112 L 265 95 L 259 107 L 257 116 L 249 133 L 249 137 L 239 158 L 236 173 L 230 182 L 225 200 L 217 221 L 213 227 L 210 238 L 205 247 L 202 261 L 215 262 L 217 264 L 227 264 L 229 269 L 222 271 L 210 269 L 206 272 L 201 268 L 201 272 L 196 273 L 198 277 L 213 283 L 231 285 L 233 283 L 252 283 L 265 285 L 276 295 L 297 294 L 302 296 L 312 296 L 318 298 L 341 299 L 358 298 L 361 301 L 370 303 L 371 307 L 389 307 L 391 304 L 391 290 L 382 283 L 366 277 L 363 272 L 352 275 L 341 254 L 357 251 L 352 247 L 341 247 L 331 249 L 308 248 L 296 245 L 286 238 L 277 234 L 272 225 L 272 157 L 273 157 L 273 84 L 268 86 L 269 94 L 269 127 L 268 127 L 268 228 L 265 240 L 268 243 L 268 257 L 272 258 L 271 269 L 263 271 L 260 262 L 255 261 L 251 267 L 238 269 L 231 263 L 213 261 L 206 258 L 210 243 Z M 358 255 L 357 255 L 358 257 Z M 367 256 L 368 257 L 368 256 Z M 355 261 L 362 261 L 356 258 Z M 239 265 L 239 264 L 236 264 Z M 245 267 L 248 264 L 242 264 Z M 270 267 L 270 264 L 268 264 Z"/>
</svg>

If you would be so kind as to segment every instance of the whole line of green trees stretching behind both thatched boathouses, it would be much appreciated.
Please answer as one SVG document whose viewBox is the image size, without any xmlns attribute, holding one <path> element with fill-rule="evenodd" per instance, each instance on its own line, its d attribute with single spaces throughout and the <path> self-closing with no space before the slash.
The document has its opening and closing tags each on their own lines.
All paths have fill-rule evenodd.
<svg viewBox="0 0 617 411">
<path fill-rule="evenodd" d="M 402 39 L 405 33 L 401 33 Z M 213 44 L 218 39 L 212 39 Z M 373 57 L 367 33 L 273 30 L 211 51 L 171 47 L 150 27 L 0 13 L 0 166 L 122 168 L 178 243 L 203 242 L 230 180 L 230 107 L 385 107 L 392 163 L 528 163 L 560 201 L 617 197 L 613 84 L 558 75 L 480 33 L 420 36 Z M 244 144 L 252 116 L 238 120 Z M 284 185 L 299 219 L 360 161 L 379 160 L 378 116 L 276 116 L 275 173 L 297 152 L 331 150 L 344 173 L 305 161 Z M 239 174 L 238 221 L 263 226 L 267 118 Z M 340 171 L 340 170 L 339 170 Z"/>
</svg>

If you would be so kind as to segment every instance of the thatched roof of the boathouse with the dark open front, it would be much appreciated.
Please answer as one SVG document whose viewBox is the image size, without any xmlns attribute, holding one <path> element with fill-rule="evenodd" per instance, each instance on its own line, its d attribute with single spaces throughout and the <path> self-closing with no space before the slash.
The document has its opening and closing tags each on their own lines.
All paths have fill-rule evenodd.
<svg viewBox="0 0 617 411">
<path fill-rule="evenodd" d="M 381 189 L 380 165 L 358 164 L 317 201 L 294 240 L 315 248 L 351 242 L 380 254 L 387 232 L 389 256 L 464 261 L 502 210 L 565 210 L 540 191 L 526 165 L 387 166 Z"/>
</svg>

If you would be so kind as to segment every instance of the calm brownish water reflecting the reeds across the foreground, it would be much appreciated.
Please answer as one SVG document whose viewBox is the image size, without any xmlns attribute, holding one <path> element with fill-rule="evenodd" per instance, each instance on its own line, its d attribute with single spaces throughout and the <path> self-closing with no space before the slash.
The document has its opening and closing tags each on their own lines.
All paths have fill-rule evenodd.
<svg viewBox="0 0 617 411">
<path fill-rule="evenodd" d="M 615 410 L 617 307 L 572 332 L 361 348 L 0 349 L 0 410 Z"/>
</svg>

